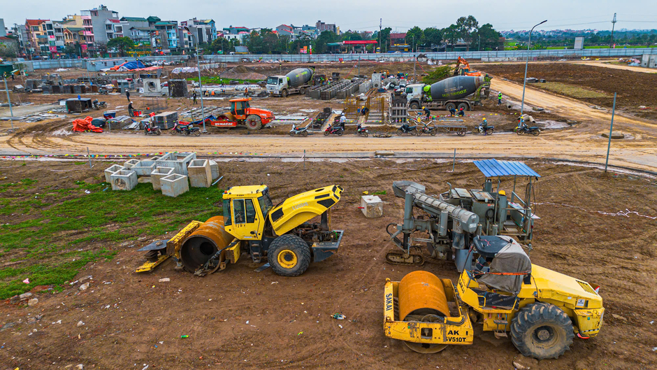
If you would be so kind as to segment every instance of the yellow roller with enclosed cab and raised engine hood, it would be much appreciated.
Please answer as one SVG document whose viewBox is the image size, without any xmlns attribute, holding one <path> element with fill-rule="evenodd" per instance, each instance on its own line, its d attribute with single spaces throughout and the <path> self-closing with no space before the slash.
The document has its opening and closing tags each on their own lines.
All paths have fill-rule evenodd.
<svg viewBox="0 0 657 370">
<path fill-rule="evenodd" d="M 343 232 L 331 229 L 331 207 L 341 192 L 329 185 L 274 206 L 266 185 L 231 187 L 223 194 L 222 216 L 192 221 L 168 241 L 142 248 L 147 262 L 136 271 L 152 271 L 174 255 L 180 268 L 203 276 L 247 253 L 256 263 L 268 260 L 260 271 L 271 266 L 282 276 L 301 275 L 310 262 L 330 257 L 340 246 Z"/>
</svg>

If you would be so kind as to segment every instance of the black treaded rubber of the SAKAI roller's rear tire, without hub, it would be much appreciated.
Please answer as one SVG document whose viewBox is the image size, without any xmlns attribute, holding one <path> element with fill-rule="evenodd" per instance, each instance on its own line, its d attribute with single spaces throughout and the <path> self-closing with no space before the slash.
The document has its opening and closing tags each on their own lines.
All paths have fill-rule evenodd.
<svg viewBox="0 0 657 370">
<path fill-rule="evenodd" d="M 554 348 L 551 351 L 549 349 L 539 351 L 528 346 L 528 343 L 524 339 L 528 334 L 528 329 L 537 322 L 552 322 L 553 325 L 564 329 L 565 340 L 561 343 L 560 348 Z M 537 360 L 544 360 L 546 358 L 557 359 L 566 350 L 570 350 L 570 345 L 574 337 L 575 332 L 572 330 L 572 321 L 561 308 L 554 306 L 554 304 L 542 302 L 528 304 L 511 320 L 511 341 L 513 345 L 522 355 L 534 357 Z"/>
</svg>

